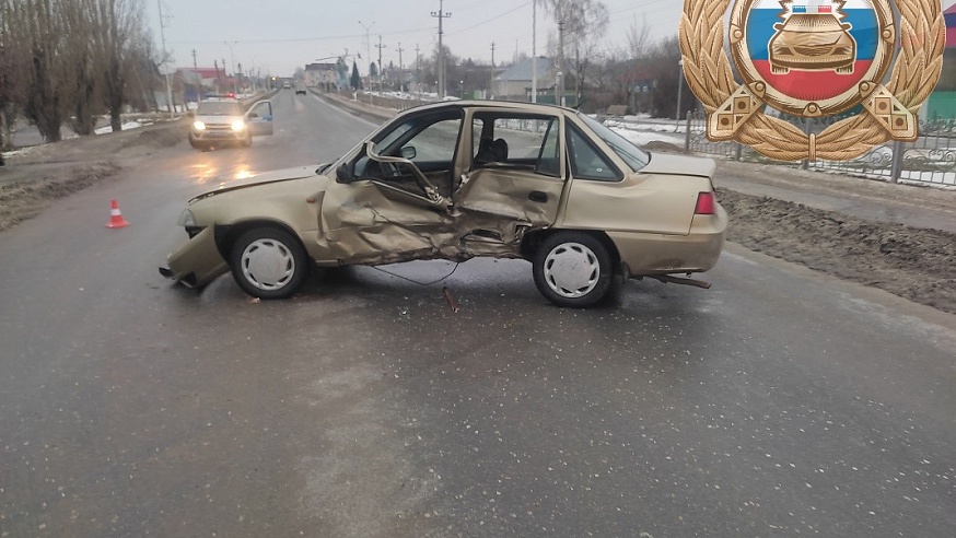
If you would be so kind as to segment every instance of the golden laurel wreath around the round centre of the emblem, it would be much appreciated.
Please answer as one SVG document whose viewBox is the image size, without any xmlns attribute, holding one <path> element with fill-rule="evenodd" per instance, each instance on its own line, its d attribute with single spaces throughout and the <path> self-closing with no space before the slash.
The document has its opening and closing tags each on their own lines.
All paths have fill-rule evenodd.
<svg viewBox="0 0 956 538">
<path fill-rule="evenodd" d="M 732 0 L 685 0 L 680 19 L 680 52 L 687 83 L 703 103 L 708 117 L 727 103 L 739 84 L 724 52 L 724 13 Z M 899 52 L 886 90 L 916 114 L 932 93 L 943 69 L 945 23 L 940 0 L 896 0 L 900 14 Z M 895 138 L 872 114 L 840 120 L 819 134 L 757 109 L 733 131 L 733 140 L 770 159 L 846 161 Z"/>
</svg>

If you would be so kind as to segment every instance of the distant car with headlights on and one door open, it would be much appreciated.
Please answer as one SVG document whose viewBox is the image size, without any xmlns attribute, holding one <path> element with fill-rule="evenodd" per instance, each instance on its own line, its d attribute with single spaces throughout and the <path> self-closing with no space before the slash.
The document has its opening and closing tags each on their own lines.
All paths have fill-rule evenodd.
<svg viewBox="0 0 956 538">
<path fill-rule="evenodd" d="M 259 101 L 243 108 L 235 100 L 207 100 L 199 103 L 189 126 L 189 145 L 209 150 L 217 145 L 252 145 L 253 137 L 272 133 L 272 103 Z"/>
</svg>

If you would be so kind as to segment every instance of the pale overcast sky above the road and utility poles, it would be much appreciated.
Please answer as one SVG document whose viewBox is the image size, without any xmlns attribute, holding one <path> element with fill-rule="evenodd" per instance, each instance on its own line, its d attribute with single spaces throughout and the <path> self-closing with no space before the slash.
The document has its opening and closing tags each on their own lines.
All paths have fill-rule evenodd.
<svg viewBox="0 0 956 538">
<path fill-rule="evenodd" d="M 604 0 L 610 13 L 606 43 L 623 45 L 632 24 L 646 23 L 653 39 L 677 35 L 684 2 L 680 0 Z M 177 67 L 242 63 L 243 71 L 291 75 L 296 67 L 315 60 L 360 52 L 364 74 L 366 58 L 382 63 L 410 66 L 418 46 L 422 56 L 438 44 L 439 0 L 145 0 L 147 17 L 155 43 L 161 46 L 162 8 L 166 50 Z M 532 2 L 529 0 L 445 0 L 443 40 L 452 54 L 480 62 L 511 61 L 515 51 L 532 52 Z M 538 8 L 537 52 L 545 54 L 551 19 Z M 365 33 L 369 33 L 366 49 Z M 328 60 L 323 60 L 328 61 Z"/>
</svg>

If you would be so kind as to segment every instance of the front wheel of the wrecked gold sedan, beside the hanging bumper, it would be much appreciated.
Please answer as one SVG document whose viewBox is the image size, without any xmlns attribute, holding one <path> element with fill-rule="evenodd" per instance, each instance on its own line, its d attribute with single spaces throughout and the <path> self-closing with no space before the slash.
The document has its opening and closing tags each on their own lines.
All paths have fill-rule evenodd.
<svg viewBox="0 0 956 538">
<path fill-rule="evenodd" d="M 288 299 L 308 276 L 310 260 L 299 239 L 276 227 L 243 233 L 232 245 L 229 265 L 236 284 L 259 299 Z"/>
</svg>

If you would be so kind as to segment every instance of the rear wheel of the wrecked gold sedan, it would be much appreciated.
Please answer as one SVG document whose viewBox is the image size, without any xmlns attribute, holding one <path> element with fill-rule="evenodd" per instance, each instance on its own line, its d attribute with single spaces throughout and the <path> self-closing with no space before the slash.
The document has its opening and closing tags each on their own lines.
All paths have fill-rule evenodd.
<svg viewBox="0 0 956 538">
<path fill-rule="evenodd" d="M 604 299 L 614 282 L 611 256 L 594 235 L 559 232 L 545 239 L 532 260 L 535 285 L 558 306 L 586 308 Z"/>
</svg>

